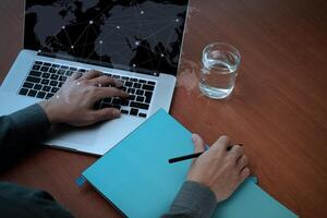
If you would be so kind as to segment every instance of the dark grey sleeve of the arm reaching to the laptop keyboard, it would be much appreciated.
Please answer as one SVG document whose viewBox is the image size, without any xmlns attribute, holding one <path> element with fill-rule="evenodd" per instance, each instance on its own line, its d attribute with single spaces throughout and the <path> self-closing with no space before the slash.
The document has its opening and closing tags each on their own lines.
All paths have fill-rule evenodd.
<svg viewBox="0 0 327 218">
<path fill-rule="evenodd" d="M 35 104 L 9 116 L 0 117 L 0 172 L 26 153 L 50 128 L 43 108 Z"/>
</svg>

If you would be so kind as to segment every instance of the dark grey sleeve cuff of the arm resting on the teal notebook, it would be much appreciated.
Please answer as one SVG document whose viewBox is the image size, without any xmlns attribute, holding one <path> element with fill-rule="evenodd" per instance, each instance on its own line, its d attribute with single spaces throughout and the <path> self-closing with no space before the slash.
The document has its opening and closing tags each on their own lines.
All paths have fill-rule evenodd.
<svg viewBox="0 0 327 218">
<path fill-rule="evenodd" d="M 168 214 L 161 218 L 209 218 L 216 208 L 214 192 L 197 182 L 186 181 Z"/>
</svg>

